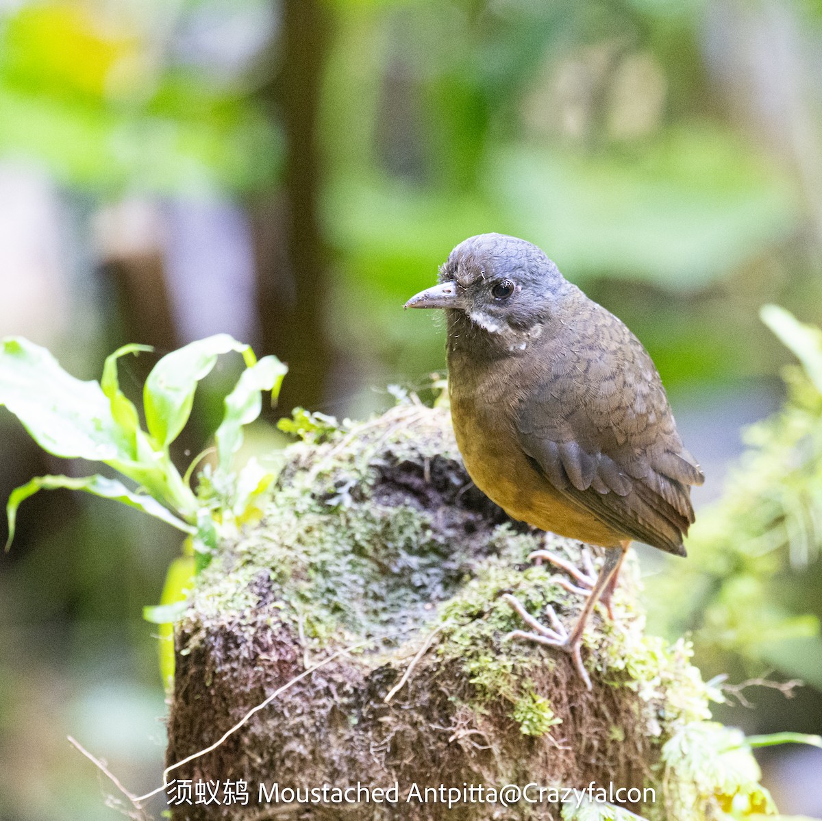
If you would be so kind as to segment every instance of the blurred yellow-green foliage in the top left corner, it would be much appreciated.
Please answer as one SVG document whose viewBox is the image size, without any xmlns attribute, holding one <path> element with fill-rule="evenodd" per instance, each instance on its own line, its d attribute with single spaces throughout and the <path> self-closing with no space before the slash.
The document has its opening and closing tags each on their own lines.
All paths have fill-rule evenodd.
<svg viewBox="0 0 822 821">
<path fill-rule="evenodd" d="M 178 14 L 48 2 L 0 18 L 0 155 L 109 197 L 270 183 L 275 130 L 240 90 L 174 60 Z"/>
</svg>

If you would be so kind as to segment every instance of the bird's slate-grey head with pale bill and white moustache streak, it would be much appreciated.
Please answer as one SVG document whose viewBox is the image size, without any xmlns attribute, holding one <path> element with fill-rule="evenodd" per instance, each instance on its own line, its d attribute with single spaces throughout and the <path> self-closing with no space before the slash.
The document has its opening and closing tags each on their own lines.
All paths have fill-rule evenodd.
<svg viewBox="0 0 822 821">
<path fill-rule="evenodd" d="M 524 239 L 478 234 L 457 245 L 439 283 L 411 297 L 406 308 L 445 308 L 451 329 L 517 336 L 544 322 L 568 288 L 556 265 Z"/>
</svg>

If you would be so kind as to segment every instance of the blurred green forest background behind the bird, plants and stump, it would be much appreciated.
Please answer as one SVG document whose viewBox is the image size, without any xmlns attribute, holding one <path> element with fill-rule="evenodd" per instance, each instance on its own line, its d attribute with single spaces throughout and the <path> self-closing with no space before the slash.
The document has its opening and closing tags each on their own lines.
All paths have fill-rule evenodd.
<svg viewBox="0 0 822 821">
<path fill-rule="evenodd" d="M 289 363 L 280 412 L 363 416 L 444 369 L 441 322 L 404 300 L 465 237 L 517 234 L 649 349 L 704 505 L 741 426 L 783 399 L 792 356 L 760 305 L 822 322 L 820 148 L 815 0 L 0 0 L 0 336 L 96 378 L 127 341 L 229 332 Z M 122 360 L 123 381 L 153 361 Z M 206 387 L 182 461 L 213 406 Z M 259 448 L 279 447 L 276 416 Z M 85 472 L 58 462 L 0 413 L 0 499 Z M 797 615 L 822 615 L 820 531 L 774 571 Z M 2 821 L 117 817 L 67 734 L 132 791 L 159 783 L 140 615 L 178 550 L 100 500 L 21 508 L 0 555 Z M 642 558 L 653 613 L 678 567 Z M 698 654 L 705 675 L 815 684 L 718 717 L 819 733 L 808 642 Z M 760 760 L 783 812 L 822 815 L 822 751 Z"/>
</svg>

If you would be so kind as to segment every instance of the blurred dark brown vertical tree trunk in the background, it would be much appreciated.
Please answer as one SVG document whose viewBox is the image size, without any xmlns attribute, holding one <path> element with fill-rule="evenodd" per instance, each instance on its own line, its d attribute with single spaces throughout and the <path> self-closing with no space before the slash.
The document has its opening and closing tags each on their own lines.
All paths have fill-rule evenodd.
<svg viewBox="0 0 822 821">
<path fill-rule="evenodd" d="M 279 71 L 261 97 L 284 130 L 282 187 L 252 206 L 262 353 L 289 364 L 280 406 L 316 407 L 331 348 L 324 322 L 328 261 L 318 200 L 323 177 L 317 119 L 330 44 L 321 0 L 283 0 Z"/>
</svg>

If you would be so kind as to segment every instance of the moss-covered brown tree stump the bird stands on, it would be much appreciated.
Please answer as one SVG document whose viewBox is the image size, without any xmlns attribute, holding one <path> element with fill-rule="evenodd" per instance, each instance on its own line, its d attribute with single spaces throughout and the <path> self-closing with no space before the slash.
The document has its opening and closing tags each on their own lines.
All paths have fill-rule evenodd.
<svg viewBox="0 0 822 821">
<path fill-rule="evenodd" d="M 177 625 L 168 763 L 212 744 L 307 667 L 359 647 L 173 772 L 242 779 L 247 806 L 179 805 L 174 819 L 468 821 L 577 812 L 575 803 L 406 802 L 414 784 L 650 786 L 655 802 L 626 808 L 670 821 L 723 817 L 737 793 L 767 800 L 750 755 L 721 787 L 695 764 L 693 750 L 729 731 L 708 721 L 709 688 L 686 644 L 668 647 L 644 634 L 633 562 L 614 622 L 600 611 L 585 634 L 593 691 L 564 653 L 506 639 L 524 625 L 505 593 L 538 619 L 548 604 L 566 624 L 575 619 L 579 597 L 561 587 L 556 568 L 535 566 L 528 555 L 548 539 L 578 563 L 584 548 L 511 521 L 471 484 L 447 410 L 406 403 L 343 429 L 308 425 L 286 457 L 266 516 L 220 545 Z M 398 783 L 399 803 L 259 804 L 261 782 Z"/>
</svg>

